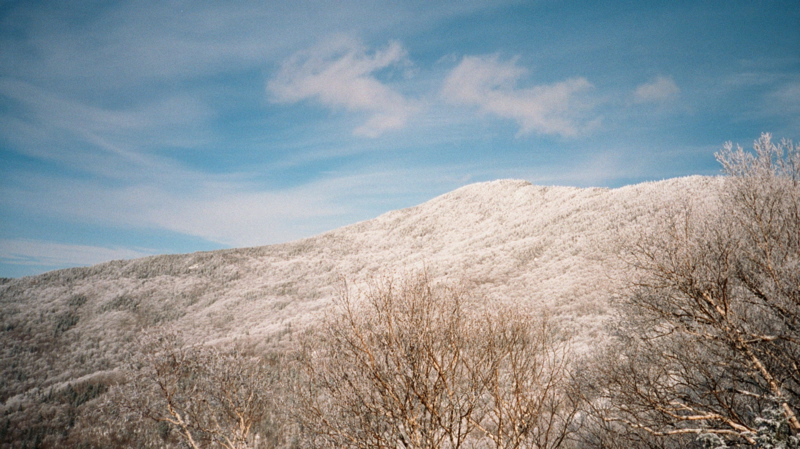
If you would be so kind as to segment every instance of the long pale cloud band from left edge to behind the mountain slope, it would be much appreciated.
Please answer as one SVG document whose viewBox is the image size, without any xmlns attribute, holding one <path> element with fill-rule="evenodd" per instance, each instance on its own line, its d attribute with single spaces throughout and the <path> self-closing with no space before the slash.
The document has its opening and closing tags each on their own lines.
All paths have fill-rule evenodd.
<svg viewBox="0 0 800 449">
<path fill-rule="evenodd" d="M 443 193 L 454 186 L 441 168 L 398 172 L 376 167 L 368 175 L 330 174 L 286 188 L 267 188 L 244 175 L 175 167 L 128 186 L 33 174 L 25 178 L 5 189 L 2 210 L 94 226 L 167 230 L 227 246 L 309 237 L 386 211 L 390 194 L 431 186 Z M 421 199 L 427 195 L 415 201 Z"/>
</svg>

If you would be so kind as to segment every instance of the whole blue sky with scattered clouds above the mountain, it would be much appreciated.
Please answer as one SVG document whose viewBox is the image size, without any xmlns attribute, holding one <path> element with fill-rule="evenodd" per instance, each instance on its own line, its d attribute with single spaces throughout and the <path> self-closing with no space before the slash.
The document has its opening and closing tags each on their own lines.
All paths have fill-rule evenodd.
<svg viewBox="0 0 800 449">
<path fill-rule="evenodd" d="M 0 276 L 800 139 L 790 1 L 0 2 Z"/>
</svg>

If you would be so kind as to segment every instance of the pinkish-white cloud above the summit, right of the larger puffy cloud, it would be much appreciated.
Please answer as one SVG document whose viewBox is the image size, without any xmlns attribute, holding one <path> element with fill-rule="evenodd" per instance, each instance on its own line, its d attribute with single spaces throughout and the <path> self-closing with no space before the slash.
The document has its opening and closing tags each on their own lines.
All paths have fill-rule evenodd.
<svg viewBox="0 0 800 449">
<path fill-rule="evenodd" d="M 516 61 L 497 56 L 466 56 L 444 82 L 443 97 L 455 104 L 474 105 L 484 112 L 512 119 L 519 133 L 575 136 L 597 123 L 583 120 L 592 102 L 581 96 L 592 88 L 584 78 L 518 88 L 527 71 Z"/>
</svg>

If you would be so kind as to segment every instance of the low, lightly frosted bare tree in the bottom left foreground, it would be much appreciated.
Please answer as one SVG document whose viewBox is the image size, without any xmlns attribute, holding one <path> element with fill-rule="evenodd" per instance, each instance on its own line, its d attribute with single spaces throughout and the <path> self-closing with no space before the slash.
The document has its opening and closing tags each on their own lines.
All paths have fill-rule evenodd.
<svg viewBox="0 0 800 449">
<path fill-rule="evenodd" d="M 154 434 L 160 444 L 177 440 L 193 449 L 276 447 L 282 439 L 274 429 L 281 424 L 274 397 L 279 363 L 237 349 L 187 345 L 177 334 L 149 336 L 125 382 L 108 396 L 104 411 L 111 417 L 100 429 L 123 447 L 152 444 Z M 139 433 L 139 441 L 120 437 L 126 433 Z"/>
</svg>

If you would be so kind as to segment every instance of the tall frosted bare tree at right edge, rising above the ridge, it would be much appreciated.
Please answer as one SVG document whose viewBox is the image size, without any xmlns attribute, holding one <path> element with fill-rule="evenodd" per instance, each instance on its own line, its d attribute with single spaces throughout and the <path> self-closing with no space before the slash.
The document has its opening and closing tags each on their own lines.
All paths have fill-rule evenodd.
<svg viewBox="0 0 800 449">
<path fill-rule="evenodd" d="M 777 409 L 776 438 L 790 438 L 800 432 L 800 152 L 764 134 L 754 154 L 728 144 L 717 158 L 720 197 L 673 209 L 632 245 L 637 275 L 592 400 L 637 431 L 747 445 Z"/>
</svg>

